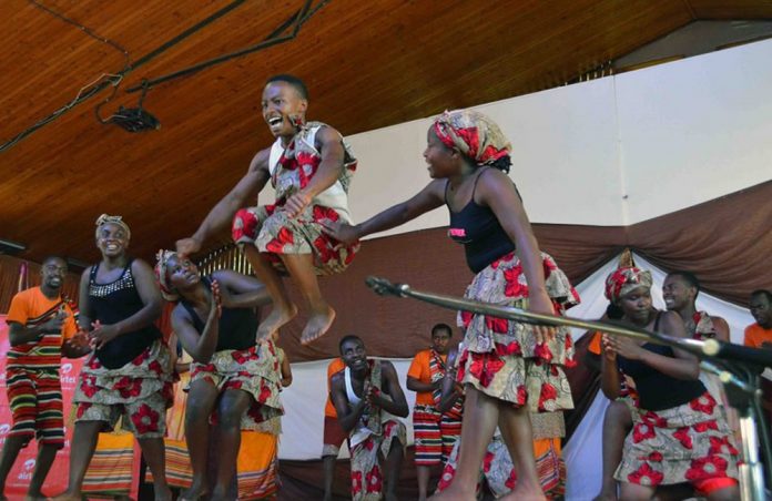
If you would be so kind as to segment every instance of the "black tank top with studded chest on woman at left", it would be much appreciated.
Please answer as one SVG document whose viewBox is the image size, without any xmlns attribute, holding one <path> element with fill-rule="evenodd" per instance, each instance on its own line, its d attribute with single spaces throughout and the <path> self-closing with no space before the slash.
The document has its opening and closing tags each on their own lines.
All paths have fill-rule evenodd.
<svg viewBox="0 0 772 501">
<path fill-rule="evenodd" d="M 121 276 L 110 284 L 98 284 L 96 272 L 100 264 L 91 268 L 89 276 L 89 305 L 94 311 L 94 320 L 104 325 L 118 324 L 144 307 L 134 285 L 129 259 Z M 132 333 L 124 333 L 96 350 L 96 358 L 108 369 L 125 366 L 155 339 L 161 338 L 161 330 L 155 325 L 149 325 Z"/>
</svg>

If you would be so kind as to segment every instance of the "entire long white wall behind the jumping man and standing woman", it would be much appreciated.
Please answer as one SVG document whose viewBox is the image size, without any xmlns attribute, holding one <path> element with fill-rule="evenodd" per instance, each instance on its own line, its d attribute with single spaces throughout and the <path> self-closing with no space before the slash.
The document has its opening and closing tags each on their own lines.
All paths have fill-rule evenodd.
<svg viewBox="0 0 772 501">
<path fill-rule="evenodd" d="M 531 221 L 633 224 L 772 178 L 770 61 L 766 40 L 476 108 L 512 143 Z M 355 221 L 426 185 L 429 123 L 347 137 Z M 446 224 L 438 209 L 379 236 Z"/>
</svg>

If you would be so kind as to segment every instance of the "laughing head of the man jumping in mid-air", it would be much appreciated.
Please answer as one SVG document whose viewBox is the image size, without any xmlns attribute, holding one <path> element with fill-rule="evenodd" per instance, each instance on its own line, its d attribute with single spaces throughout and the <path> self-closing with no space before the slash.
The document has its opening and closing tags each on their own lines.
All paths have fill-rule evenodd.
<svg viewBox="0 0 772 501">
<path fill-rule="evenodd" d="M 263 120 L 274 137 L 292 137 L 296 124 L 305 121 L 308 101 L 287 82 L 276 81 L 263 90 Z"/>
</svg>

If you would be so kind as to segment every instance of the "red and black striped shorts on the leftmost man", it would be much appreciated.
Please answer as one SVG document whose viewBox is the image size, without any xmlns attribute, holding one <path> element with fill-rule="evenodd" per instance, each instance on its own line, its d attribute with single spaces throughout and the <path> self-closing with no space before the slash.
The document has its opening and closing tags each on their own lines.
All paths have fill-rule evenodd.
<svg viewBox="0 0 772 501">
<path fill-rule="evenodd" d="M 64 447 L 62 388 L 57 369 L 6 369 L 6 391 L 13 416 L 9 437 L 24 437 L 26 443 L 37 434 L 40 443 Z"/>
</svg>

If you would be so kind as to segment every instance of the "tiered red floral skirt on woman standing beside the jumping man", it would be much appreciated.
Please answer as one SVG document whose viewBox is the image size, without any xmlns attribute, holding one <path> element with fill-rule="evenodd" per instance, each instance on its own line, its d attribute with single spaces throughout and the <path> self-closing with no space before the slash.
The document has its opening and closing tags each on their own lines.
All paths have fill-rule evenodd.
<svg viewBox="0 0 772 501">
<path fill-rule="evenodd" d="M 562 314 L 579 303 L 579 295 L 549 255 L 542 253 L 541 259 L 547 294 L 556 311 Z M 528 308 L 528 284 L 520 259 L 510 253 L 491 263 L 475 276 L 464 297 Z M 568 328 L 560 327 L 555 339 L 537 344 L 534 326 L 515 320 L 460 311 L 458 325 L 466 329 L 459 382 L 498 400 L 528 406 L 531 412 L 573 408 L 562 370 L 576 364 Z"/>
</svg>

